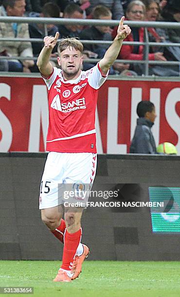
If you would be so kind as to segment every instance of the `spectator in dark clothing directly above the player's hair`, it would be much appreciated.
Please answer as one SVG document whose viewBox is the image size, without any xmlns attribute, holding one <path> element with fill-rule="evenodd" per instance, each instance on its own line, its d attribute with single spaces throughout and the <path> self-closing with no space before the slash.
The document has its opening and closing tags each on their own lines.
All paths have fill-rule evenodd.
<svg viewBox="0 0 180 297">
<path fill-rule="evenodd" d="M 64 10 L 64 18 L 83 18 L 83 10 L 79 5 L 75 3 L 69 4 Z M 61 37 L 79 37 L 79 33 L 82 31 L 83 26 L 80 25 L 59 25 L 58 31 Z"/>
</svg>

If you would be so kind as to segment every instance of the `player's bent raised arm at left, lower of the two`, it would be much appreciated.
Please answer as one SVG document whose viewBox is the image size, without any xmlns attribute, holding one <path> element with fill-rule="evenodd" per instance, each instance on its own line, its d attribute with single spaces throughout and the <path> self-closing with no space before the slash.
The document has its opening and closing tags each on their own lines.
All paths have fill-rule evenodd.
<svg viewBox="0 0 180 297">
<path fill-rule="evenodd" d="M 50 58 L 52 51 L 57 43 L 57 39 L 59 37 L 59 33 L 56 32 L 55 36 L 46 36 L 44 37 L 44 47 L 41 50 L 38 59 L 37 59 L 37 67 L 39 71 L 45 78 L 48 78 L 53 72 L 53 66 L 50 63 Z"/>
</svg>

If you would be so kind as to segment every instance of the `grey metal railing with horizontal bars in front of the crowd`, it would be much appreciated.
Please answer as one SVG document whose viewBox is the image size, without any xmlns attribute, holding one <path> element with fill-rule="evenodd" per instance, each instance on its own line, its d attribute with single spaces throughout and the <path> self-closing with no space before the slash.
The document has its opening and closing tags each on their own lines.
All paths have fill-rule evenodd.
<svg viewBox="0 0 180 297">
<path fill-rule="evenodd" d="M 60 24 L 76 24 L 76 25 L 93 25 L 93 26 L 117 26 L 119 24 L 118 20 L 94 20 L 94 19 L 74 19 L 74 18 L 46 18 L 46 17 L 18 17 L 18 16 L 0 16 L 0 22 L 5 23 L 43 23 L 45 27 L 45 32 L 47 32 L 47 25 L 48 24 L 54 24 L 54 25 L 60 25 Z M 124 41 L 124 45 L 144 45 L 144 60 L 123 60 L 123 59 L 117 59 L 116 62 L 121 63 L 128 63 L 128 64 L 144 64 L 144 74 L 145 76 L 148 76 L 149 74 L 149 65 L 178 65 L 180 66 L 179 61 L 152 61 L 148 60 L 148 54 L 149 54 L 149 48 L 151 46 L 161 46 L 161 47 L 168 47 L 168 46 L 175 46 L 180 47 L 180 43 L 172 43 L 172 42 L 149 42 L 148 40 L 148 27 L 153 28 L 171 28 L 171 29 L 180 29 L 180 23 L 178 22 L 151 22 L 151 21 L 125 21 L 124 24 L 127 24 L 129 27 L 144 27 L 144 42 L 128 42 Z M 59 39 L 60 40 L 60 39 Z M 59 41 L 58 40 L 58 41 Z M 6 38 L 1 37 L 0 41 L 13 41 L 13 42 L 43 42 L 43 39 L 41 38 Z M 109 45 L 112 43 L 112 41 L 102 41 L 102 40 L 80 40 L 83 44 L 99 44 L 99 45 Z M 0 59 L 18 59 L 18 60 L 36 60 L 37 58 L 26 58 L 26 57 L 7 57 L 7 56 L 0 56 Z M 51 60 L 56 61 L 56 58 L 52 58 Z M 90 62 L 90 63 L 96 63 L 100 59 L 84 59 L 84 62 Z"/>
</svg>

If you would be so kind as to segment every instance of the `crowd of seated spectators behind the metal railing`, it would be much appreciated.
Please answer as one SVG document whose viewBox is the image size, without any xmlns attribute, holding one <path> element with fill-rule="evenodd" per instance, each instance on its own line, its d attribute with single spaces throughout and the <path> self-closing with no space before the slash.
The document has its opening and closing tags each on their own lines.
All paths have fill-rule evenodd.
<svg viewBox="0 0 180 297">
<path fill-rule="evenodd" d="M 120 19 L 123 15 L 131 21 L 170 21 L 180 22 L 180 0 L 0 0 L 0 16 L 30 16 L 51 18 L 92 18 L 101 20 Z M 125 41 L 144 42 L 144 28 L 132 27 L 131 34 Z M 36 57 L 42 47 L 42 39 L 46 35 L 60 38 L 78 37 L 81 40 L 111 41 L 116 36 L 117 26 L 81 26 L 78 24 L 48 24 L 42 23 L 6 23 L 0 22 L 0 71 L 37 72 Z M 151 42 L 180 43 L 180 29 L 148 28 Z M 15 41 L 16 38 L 40 38 L 42 42 Z M 84 58 L 101 59 L 107 50 L 105 44 L 84 44 Z M 56 57 L 56 48 L 52 53 Z M 144 60 L 143 45 L 123 45 L 118 59 Z M 6 57 L 9 57 L 8 59 Z M 12 57 L 12 59 L 11 59 Z M 23 59 L 19 59 L 23 58 Z M 34 60 L 31 58 L 35 58 Z M 153 46 L 149 50 L 149 60 L 180 61 L 180 47 Z M 84 63 L 84 70 L 94 66 Z M 149 74 L 158 76 L 179 76 L 179 65 L 149 65 Z M 115 62 L 110 74 L 143 75 L 144 64 Z"/>
</svg>

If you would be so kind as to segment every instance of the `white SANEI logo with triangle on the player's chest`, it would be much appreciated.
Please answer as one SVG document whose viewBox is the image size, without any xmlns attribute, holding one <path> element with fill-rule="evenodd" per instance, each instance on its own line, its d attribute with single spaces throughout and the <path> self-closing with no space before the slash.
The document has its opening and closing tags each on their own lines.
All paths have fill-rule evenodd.
<svg viewBox="0 0 180 297">
<path fill-rule="evenodd" d="M 58 110 L 62 113 L 70 113 L 75 110 L 85 109 L 86 100 L 83 97 L 83 98 L 72 100 L 66 103 L 61 103 L 60 97 L 57 94 L 51 103 L 51 108 Z"/>
</svg>

